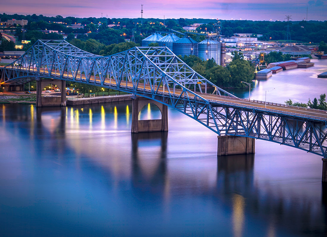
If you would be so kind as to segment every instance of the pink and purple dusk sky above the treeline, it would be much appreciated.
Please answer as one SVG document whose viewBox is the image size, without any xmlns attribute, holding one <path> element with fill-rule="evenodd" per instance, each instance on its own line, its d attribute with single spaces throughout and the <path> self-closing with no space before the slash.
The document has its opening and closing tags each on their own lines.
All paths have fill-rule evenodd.
<svg viewBox="0 0 327 237">
<path fill-rule="evenodd" d="M 144 18 L 219 18 L 223 20 L 270 20 L 284 21 L 285 15 L 292 15 L 293 21 L 327 20 L 327 0 L 16 0 L 2 1 L 1 12 L 7 14 L 43 14 L 45 16 L 62 15 L 74 17 L 109 18 L 141 17 L 143 4 Z"/>
</svg>

